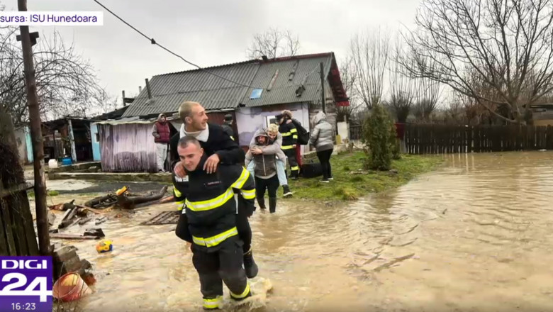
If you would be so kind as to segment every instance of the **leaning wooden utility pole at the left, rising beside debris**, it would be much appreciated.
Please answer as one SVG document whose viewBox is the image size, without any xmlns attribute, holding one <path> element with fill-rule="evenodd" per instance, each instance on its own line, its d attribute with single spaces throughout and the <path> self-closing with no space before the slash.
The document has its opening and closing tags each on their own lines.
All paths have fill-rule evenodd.
<svg viewBox="0 0 553 312">
<path fill-rule="evenodd" d="M 27 11 L 27 1 L 18 0 L 19 11 Z M 27 87 L 29 106 L 30 138 L 33 142 L 33 168 L 35 171 L 35 208 L 36 227 L 38 232 L 38 250 L 41 255 L 50 255 L 50 233 L 48 233 L 48 211 L 46 207 L 46 181 L 44 177 L 43 135 L 40 130 L 40 110 L 36 94 L 35 65 L 33 64 L 33 43 L 29 26 L 20 26 L 21 47 L 23 48 L 23 68 Z M 33 33 L 33 42 L 38 34 Z"/>
</svg>

